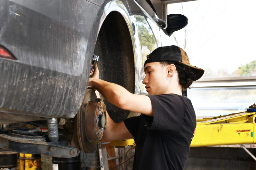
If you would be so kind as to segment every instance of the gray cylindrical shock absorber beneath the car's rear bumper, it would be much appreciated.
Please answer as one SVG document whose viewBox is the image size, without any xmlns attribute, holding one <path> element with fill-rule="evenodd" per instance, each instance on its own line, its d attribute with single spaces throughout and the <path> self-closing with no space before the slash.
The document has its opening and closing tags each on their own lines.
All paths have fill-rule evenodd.
<svg viewBox="0 0 256 170">
<path fill-rule="evenodd" d="M 48 127 L 48 138 L 51 142 L 57 142 L 59 139 L 59 130 L 58 130 L 58 119 L 51 118 L 47 120 Z"/>
</svg>

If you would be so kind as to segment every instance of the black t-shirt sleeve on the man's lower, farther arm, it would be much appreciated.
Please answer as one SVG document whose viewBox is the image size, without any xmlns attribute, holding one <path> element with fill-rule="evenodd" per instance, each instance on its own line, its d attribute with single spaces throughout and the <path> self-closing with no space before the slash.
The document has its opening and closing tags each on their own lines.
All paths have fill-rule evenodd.
<svg viewBox="0 0 256 170">
<path fill-rule="evenodd" d="M 124 120 L 124 125 L 132 134 L 133 138 L 137 137 L 141 116 L 134 116 Z"/>
</svg>

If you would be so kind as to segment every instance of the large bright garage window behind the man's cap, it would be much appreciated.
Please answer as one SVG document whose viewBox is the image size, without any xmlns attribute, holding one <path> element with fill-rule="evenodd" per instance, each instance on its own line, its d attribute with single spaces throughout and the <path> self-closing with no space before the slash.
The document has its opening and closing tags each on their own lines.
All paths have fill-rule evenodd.
<svg viewBox="0 0 256 170">
<path fill-rule="evenodd" d="M 205 70 L 187 96 L 197 117 L 245 111 L 256 103 L 256 34 L 253 0 L 200 0 L 167 5 L 188 26 L 171 36 L 191 65 Z"/>
</svg>

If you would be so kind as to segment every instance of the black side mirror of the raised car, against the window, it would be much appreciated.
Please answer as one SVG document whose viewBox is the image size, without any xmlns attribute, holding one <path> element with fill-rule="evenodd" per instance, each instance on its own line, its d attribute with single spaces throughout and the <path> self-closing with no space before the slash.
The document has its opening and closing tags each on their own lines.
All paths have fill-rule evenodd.
<svg viewBox="0 0 256 170">
<path fill-rule="evenodd" d="M 169 36 L 174 31 L 178 31 L 188 25 L 188 18 L 181 14 L 170 14 L 167 15 L 167 28 L 166 31 Z"/>
</svg>

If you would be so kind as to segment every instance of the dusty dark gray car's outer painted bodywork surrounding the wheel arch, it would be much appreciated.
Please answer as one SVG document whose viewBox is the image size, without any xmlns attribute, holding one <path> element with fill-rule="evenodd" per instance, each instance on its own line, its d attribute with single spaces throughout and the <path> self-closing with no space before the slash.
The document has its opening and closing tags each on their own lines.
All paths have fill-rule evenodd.
<svg viewBox="0 0 256 170">
<path fill-rule="evenodd" d="M 134 93 L 147 94 L 142 84 L 144 62 L 163 45 L 163 31 L 154 20 L 156 14 L 147 9 L 149 15 L 140 4 L 133 0 L 0 0 L 0 18 L 4 18 L 0 19 L 0 45 L 17 58 L 0 58 L 0 124 L 76 115 L 100 27 L 111 11 L 124 17 L 132 38 Z"/>
</svg>

